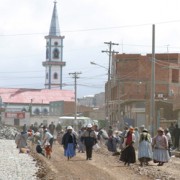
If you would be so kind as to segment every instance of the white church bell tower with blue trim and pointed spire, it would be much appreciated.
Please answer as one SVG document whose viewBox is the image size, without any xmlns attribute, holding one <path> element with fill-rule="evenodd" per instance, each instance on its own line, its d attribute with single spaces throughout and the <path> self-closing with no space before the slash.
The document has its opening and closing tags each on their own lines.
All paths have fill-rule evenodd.
<svg viewBox="0 0 180 180">
<path fill-rule="evenodd" d="M 46 89 L 62 89 L 62 68 L 65 66 L 63 62 L 63 39 L 60 35 L 58 15 L 56 9 L 56 1 L 49 29 L 49 35 L 46 39 L 46 61 L 43 62 L 45 67 L 45 88 Z"/>
</svg>

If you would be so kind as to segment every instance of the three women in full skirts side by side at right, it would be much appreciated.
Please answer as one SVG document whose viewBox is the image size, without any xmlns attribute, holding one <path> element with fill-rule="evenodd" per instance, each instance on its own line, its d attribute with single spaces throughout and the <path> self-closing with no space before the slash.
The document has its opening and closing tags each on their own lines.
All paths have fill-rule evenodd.
<svg viewBox="0 0 180 180">
<path fill-rule="evenodd" d="M 162 166 L 170 159 L 170 149 L 168 137 L 163 128 L 157 130 L 157 134 L 151 138 L 150 133 L 146 128 L 141 130 L 139 139 L 136 139 L 134 128 L 130 127 L 124 136 L 123 148 L 121 150 L 120 160 L 126 165 L 136 162 L 135 142 L 138 141 L 138 160 L 140 165 L 148 165 L 149 161 L 153 160 Z"/>
</svg>

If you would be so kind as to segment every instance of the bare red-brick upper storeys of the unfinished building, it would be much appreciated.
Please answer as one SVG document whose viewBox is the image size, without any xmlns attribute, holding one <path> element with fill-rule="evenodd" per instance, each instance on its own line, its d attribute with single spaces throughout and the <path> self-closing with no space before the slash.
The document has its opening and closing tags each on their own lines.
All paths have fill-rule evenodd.
<svg viewBox="0 0 180 180">
<path fill-rule="evenodd" d="M 111 91 L 112 99 L 118 93 L 124 98 L 149 98 L 151 92 L 151 55 L 118 54 L 116 61 L 116 88 Z M 157 54 L 155 63 L 156 97 L 168 97 L 172 90 L 179 94 L 179 54 Z M 171 67 L 174 67 L 172 69 Z M 178 87 L 178 88 L 177 88 Z M 107 90 L 107 89 L 106 89 Z"/>
</svg>

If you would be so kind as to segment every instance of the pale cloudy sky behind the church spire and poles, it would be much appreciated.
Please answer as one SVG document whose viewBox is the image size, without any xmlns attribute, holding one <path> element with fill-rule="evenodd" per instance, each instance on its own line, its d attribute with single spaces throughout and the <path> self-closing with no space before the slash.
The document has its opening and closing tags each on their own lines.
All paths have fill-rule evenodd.
<svg viewBox="0 0 180 180">
<path fill-rule="evenodd" d="M 180 52 L 179 0 L 57 0 L 64 39 L 64 89 L 73 90 L 69 73 L 81 72 L 78 97 L 104 91 L 108 50 L 151 53 L 152 24 L 156 53 Z M 44 36 L 48 35 L 53 0 L 0 0 L 0 87 L 44 88 Z"/>
</svg>

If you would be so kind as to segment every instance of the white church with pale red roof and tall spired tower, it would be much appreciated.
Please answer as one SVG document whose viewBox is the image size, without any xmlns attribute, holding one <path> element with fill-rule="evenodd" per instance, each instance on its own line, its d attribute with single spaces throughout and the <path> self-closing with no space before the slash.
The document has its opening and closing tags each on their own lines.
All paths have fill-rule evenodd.
<svg viewBox="0 0 180 180">
<path fill-rule="evenodd" d="M 4 124 L 56 124 L 59 116 L 74 113 L 74 91 L 62 90 L 64 36 L 60 35 L 56 5 L 55 1 L 49 35 L 45 36 L 45 89 L 0 88 L 0 121 Z"/>
</svg>

